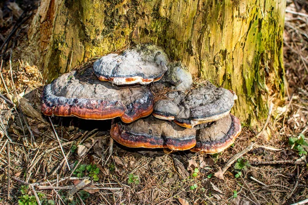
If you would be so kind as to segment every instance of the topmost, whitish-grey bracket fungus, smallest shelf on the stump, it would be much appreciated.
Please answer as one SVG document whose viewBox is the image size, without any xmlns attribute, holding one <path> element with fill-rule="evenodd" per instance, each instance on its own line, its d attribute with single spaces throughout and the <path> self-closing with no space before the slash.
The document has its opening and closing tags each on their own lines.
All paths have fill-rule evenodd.
<svg viewBox="0 0 308 205">
<path fill-rule="evenodd" d="M 111 53 L 95 61 L 94 74 L 115 85 L 149 84 L 167 71 L 167 55 L 155 45 L 130 48 L 122 54 Z"/>
</svg>

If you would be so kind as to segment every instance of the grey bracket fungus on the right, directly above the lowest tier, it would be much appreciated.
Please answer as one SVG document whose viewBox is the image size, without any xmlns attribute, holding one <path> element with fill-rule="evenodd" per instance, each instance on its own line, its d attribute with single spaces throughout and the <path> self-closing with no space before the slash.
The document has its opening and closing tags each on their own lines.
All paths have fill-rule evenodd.
<svg viewBox="0 0 308 205">
<path fill-rule="evenodd" d="M 187 94 L 172 90 L 167 92 L 163 99 L 155 103 L 153 115 L 192 128 L 227 116 L 235 99 L 237 96 L 233 91 L 217 88 L 207 81 L 205 85 L 191 89 Z"/>
</svg>

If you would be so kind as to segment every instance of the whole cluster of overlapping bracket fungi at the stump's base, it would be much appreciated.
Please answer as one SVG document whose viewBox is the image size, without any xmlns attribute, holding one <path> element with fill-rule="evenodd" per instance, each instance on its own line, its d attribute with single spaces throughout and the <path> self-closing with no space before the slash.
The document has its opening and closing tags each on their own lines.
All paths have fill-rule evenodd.
<svg viewBox="0 0 308 205">
<path fill-rule="evenodd" d="M 232 145 L 241 132 L 239 119 L 230 114 L 235 99 L 233 91 L 208 81 L 194 85 L 185 66 L 145 44 L 55 79 L 42 93 L 42 112 L 116 118 L 110 135 L 131 148 L 213 154 Z"/>
</svg>

